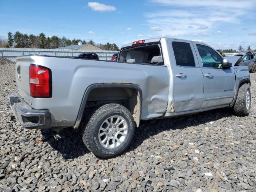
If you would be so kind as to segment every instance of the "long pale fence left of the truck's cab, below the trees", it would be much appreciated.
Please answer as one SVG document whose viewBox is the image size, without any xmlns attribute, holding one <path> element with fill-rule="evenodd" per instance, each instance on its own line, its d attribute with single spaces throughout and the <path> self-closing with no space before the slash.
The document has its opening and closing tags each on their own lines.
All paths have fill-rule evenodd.
<svg viewBox="0 0 256 192">
<path fill-rule="evenodd" d="M 111 60 L 114 53 L 118 51 L 101 50 L 72 50 L 72 49 L 30 49 L 30 48 L 0 48 L 0 56 L 11 61 L 16 61 L 16 57 L 29 54 L 42 54 L 50 56 L 75 57 L 82 52 L 94 52 L 99 56 L 99 60 Z"/>
</svg>

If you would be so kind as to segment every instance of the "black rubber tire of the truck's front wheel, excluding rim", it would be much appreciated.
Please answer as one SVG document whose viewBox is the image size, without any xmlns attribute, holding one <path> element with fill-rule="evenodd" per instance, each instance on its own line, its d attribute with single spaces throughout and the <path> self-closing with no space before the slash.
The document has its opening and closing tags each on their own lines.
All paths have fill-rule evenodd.
<svg viewBox="0 0 256 192">
<path fill-rule="evenodd" d="M 246 94 L 247 91 L 249 91 L 250 94 L 250 107 L 246 107 Z M 238 90 L 238 95 L 236 98 L 236 102 L 233 106 L 234 113 L 238 116 L 248 116 L 250 113 L 250 108 L 251 108 L 251 92 L 250 92 L 250 86 L 245 83 L 240 86 Z"/>
</svg>

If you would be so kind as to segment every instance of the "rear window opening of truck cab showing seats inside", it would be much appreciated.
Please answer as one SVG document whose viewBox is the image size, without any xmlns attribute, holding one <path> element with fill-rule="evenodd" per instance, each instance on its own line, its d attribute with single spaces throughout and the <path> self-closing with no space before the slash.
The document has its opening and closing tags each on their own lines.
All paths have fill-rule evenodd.
<svg viewBox="0 0 256 192">
<path fill-rule="evenodd" d="M 119 62 L 163 64 L 160 45 L 154 44 L 123 49 L 120 52 Z"/>
</svg>

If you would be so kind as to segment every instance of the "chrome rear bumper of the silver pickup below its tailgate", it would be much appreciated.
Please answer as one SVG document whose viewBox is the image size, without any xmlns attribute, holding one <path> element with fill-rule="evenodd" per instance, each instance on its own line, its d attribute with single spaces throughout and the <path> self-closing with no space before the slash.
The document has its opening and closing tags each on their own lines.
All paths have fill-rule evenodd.
<svg viewBox="0 0 256 192">
<path fill-rule="evenodd" d="M 15 118 L 27 129 L 42 129 L 50 127 L 50 112 L 34 110 L 26 102 L 12 92 L 9 94 L 9 104 Z"/>
</svg>

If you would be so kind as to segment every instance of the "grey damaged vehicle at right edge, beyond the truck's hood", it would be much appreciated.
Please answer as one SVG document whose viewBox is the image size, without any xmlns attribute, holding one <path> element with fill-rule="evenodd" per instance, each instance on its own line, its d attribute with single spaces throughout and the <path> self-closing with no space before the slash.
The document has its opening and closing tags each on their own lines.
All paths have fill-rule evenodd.
<svg viewBox="0 0 256 192">
<path fill-rule="evenodd" d="M 242 56 L 242 61 L 238 64 L 239 66 L 248 66 L 250 72 L 256 71 L 256 53 L 247 52 L 245 54 L 236 54 L 235 56 Z"/>
</svg>

